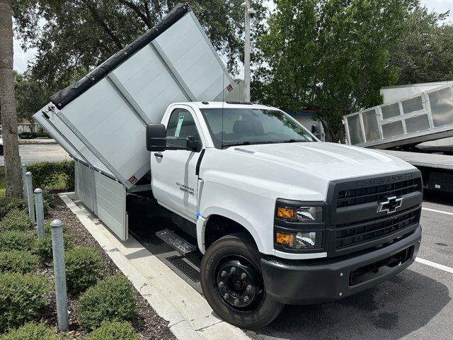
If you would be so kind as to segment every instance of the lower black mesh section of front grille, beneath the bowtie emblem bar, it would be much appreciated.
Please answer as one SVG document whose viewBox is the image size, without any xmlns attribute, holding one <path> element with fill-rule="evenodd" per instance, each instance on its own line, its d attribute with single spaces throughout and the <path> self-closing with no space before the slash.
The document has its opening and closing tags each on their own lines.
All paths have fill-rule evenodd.
<svg viewBox="0 0 453 340">
<path fill-rule="evenodd" d="M 336 249 L 345 249 L 396 234 L 418 222 L 420 210 L 421 208 L 412 208 L 398 215 L 336 225 Z"/>
</svg>

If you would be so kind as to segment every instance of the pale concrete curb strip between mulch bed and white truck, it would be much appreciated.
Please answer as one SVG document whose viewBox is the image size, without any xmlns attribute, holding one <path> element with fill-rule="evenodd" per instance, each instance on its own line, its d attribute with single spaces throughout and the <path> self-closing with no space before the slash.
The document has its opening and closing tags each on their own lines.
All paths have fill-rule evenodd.
<svg viewBox="0 0 453 340">
<path fill-rule="evenodd" d="M 241 329 L 217 318 L 204 297 L 136 239 L 130 236 L 121 242 L 101 221 L 96 224 L 96 215 L 72 201 L 74 193 L 59 193 L 59 197 L 149 305 L 168 320 L 168 327 L 178 339 L 250 339 Z"/>
</svg>

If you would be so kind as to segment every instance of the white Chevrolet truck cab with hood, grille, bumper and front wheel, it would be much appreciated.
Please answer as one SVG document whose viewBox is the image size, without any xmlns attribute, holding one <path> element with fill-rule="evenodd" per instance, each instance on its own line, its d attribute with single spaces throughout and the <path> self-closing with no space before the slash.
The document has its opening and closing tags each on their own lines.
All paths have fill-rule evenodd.
<svg viewBox="0 0 453 340">
<path fill-rule="evenodd" d="M 207 301 L 245 328 L 396 275 L 418 252 L 420 171 L 319 142 L 283 111 L 173 103 L 147 126 L 151 187 L 192 226 Z"/>
</svg>

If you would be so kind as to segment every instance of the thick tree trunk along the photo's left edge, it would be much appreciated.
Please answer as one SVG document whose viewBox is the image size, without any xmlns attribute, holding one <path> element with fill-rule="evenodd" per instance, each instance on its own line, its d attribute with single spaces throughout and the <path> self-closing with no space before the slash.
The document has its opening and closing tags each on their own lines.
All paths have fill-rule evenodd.
<svg viewBox="0 0 453 340">
<path fill-rule="evenodd" d="M 0 0 L 0 112 L 4 143 L 6 196 L 20 197 L 22 195 L 22 176 L 14 95 L 11 0 Z"/>
</svg>

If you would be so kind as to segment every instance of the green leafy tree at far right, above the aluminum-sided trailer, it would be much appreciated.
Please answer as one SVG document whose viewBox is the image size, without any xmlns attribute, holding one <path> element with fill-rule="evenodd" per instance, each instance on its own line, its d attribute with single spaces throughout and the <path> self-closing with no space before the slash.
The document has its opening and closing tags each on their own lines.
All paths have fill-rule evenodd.
<svg viewBox="0 0 453 340">
<path fill-rule="evenodd" d="M 390 65 L 398 69 L 398 84 L 453 79 L 453 25 L 448 13 L 417 7 L 405 22 L 403 34 L 391 47 Z"/>
</svg>

